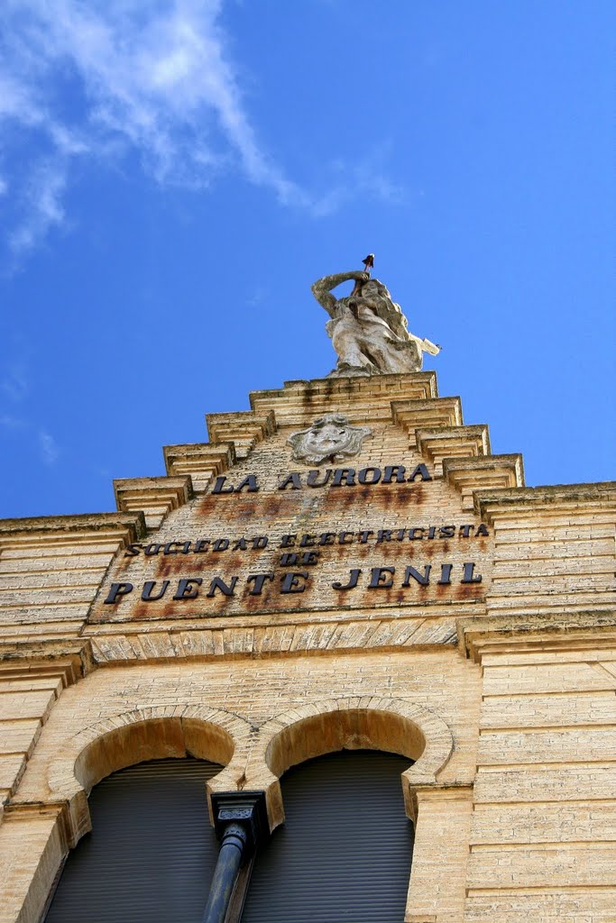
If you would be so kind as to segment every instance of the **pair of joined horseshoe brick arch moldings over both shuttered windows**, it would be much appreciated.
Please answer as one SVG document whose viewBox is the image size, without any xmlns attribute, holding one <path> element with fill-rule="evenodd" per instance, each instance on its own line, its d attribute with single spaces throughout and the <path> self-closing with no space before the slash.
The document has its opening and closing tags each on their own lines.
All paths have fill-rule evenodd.
<svg viewBox="0 0 616 923">
<path fill-rule="evenodd" d="M 453 735 L 429 709 L 380 697 L 310 702 L 259 729 L 222 709 L 144 705 L 71 737 L 49 767 L 49 800 L 66 805 L 66 840 L 72 847 L 91 830 L 88 794 L 93 785 L 138 762 L 189 754 L 223 764 L 208 784 L 210 794 L 263 790 L 273 830 L 284 821 L 283 773 L 338 749 L 380 749 L 413 760 L 402 774 L 405 809 L 413 818 L 414 789 L 437 784 L 453 753 Z"/>
</svg>

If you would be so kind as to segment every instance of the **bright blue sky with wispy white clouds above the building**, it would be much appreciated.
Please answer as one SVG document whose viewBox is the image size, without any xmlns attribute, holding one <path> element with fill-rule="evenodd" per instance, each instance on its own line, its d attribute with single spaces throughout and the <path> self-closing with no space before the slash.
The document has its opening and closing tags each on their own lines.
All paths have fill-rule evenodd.
<svg viewBox="0 0 616 923">
<path fill-rule="evenodd" d="M 114 509 L 335 363 L 371 250 L 529 485 L 613 477 L 616 6 L 5 0 L 0 515 Z"/>
</svg>

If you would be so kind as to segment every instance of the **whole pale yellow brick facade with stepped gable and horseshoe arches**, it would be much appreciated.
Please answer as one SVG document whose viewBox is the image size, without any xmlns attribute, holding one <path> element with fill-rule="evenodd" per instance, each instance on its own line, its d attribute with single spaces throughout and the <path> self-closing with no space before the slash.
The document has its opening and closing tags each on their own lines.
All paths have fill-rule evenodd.
<svg viewBox="0 0 616 923">
<path fill-rule="evenodd" d="M 407 923 L 615 921 L 616 486 L 526 488 L 433 373 L 250 405 L 116 513 L 0 523 L 0 923 L 41 919 L 104 775 L 219 761 L 273 829 L 341 747 L 415 761 Z M 369 438 L 297 462 L 324 414 Z"/>
</svg>

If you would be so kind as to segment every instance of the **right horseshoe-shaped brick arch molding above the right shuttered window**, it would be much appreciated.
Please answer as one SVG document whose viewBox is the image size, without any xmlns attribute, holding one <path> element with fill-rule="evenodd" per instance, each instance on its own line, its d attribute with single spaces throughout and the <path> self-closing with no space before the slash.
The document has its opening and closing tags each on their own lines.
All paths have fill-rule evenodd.
<svg viewBox="0 0 616 923">
<path fill-rule="evenodd" d="M 413 760 L 402 784 L 406 813 L 414 818 L 414 789 L 437 784 L 453 753 L 453 735 L 437 714 L 399 699 L 327 699 L 277 715 L 260 727 L 246 770 L 248 787 L 266 792 L 272 829 L 284 821 L 283 773 L 340 749 L 385 750 Z"/>
</svg>

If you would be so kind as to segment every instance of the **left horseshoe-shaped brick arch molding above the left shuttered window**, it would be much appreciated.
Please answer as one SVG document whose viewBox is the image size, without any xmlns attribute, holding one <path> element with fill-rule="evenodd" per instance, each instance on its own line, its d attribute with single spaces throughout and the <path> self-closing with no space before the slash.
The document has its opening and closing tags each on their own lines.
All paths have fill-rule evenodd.
<svg viewBox="0 0 616 923">
<path fill-rule="evenodd" d="M 194 705 L 136 708 L 84 728 L 62 747 L 47 773 L 50 801 L 66 804 L 67 845 L 91 830 L 88 795 L 103 778 L 147 760 L 194 756 L 223 770 L 208 788 L 236 789 L 252 726 L 235 714 Z"/>
</svg>

